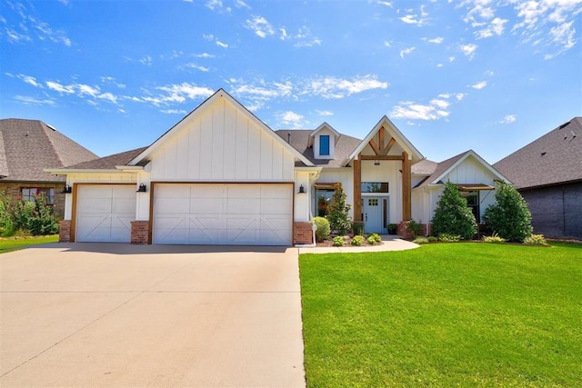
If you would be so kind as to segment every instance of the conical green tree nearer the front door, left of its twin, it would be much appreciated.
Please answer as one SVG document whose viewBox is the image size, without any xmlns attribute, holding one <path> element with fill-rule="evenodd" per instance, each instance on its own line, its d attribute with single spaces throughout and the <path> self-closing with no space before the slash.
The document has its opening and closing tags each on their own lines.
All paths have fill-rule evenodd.
<svg viewBox="0 0 582 388">
<path fill-rule="evenodd" d="M 467 240 L 477 233 L 477 221 L 457 184 L 447 182 L 433 217 L 433 233 L 455 234 Z"/>
</svg>

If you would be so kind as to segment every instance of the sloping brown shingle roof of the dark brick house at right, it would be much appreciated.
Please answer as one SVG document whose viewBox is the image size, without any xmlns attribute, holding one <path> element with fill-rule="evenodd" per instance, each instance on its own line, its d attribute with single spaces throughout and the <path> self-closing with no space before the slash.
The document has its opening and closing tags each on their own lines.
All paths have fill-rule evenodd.
<svg viewBox="0 0 582 388">
<path fill-rule="evenodd" d="M 574 117 L 493 165 L 517 188 L 582 180 L 582 117 Z"/>
</svg>

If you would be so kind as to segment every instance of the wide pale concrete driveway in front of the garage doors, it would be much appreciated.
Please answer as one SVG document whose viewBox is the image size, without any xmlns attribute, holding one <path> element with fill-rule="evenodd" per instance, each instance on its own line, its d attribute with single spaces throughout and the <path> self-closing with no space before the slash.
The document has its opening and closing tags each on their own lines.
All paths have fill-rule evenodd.
<svg viewBox="0 0 582 388">
<path fill-rule="evenodd" d="M 48 244 L 0 292 L 3 387 L 305 386 L 294 248 Z"/>
</svg>

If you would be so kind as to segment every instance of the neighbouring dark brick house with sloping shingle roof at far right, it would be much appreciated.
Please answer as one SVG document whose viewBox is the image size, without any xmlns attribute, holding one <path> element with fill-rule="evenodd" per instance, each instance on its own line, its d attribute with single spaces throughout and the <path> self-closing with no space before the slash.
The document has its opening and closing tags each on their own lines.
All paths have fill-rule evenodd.
<svg viewBox="0 0 582 388">
<path fill-rule="evenodd" d="M 494 166 L 527 201 L 534 233 L 582 239 L 582 117 L 559 125 Z"/>
</svg>

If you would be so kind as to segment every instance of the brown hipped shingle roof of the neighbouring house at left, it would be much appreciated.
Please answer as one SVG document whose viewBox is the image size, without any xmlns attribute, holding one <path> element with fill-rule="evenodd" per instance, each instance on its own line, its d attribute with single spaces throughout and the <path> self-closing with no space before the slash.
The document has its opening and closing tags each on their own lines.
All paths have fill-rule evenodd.
<svg viewBox="0 0 582 388">
<path fill-rule="evenodd" d="M 96 159 L 82 145 L 39 120 L 0 120 L 0 182 L 61 182 L 45 168 Z"/>
</svg>

